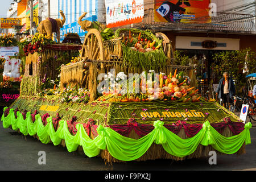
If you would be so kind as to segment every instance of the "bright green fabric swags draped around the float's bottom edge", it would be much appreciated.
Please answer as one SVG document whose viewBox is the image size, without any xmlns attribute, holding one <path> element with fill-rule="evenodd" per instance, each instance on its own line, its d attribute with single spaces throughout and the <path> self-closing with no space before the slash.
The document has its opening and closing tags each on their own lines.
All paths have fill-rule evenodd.
<svg viewBox="0 0 256 182">
<path fill-rule="evenodd" d="M 14 109 L 10 109 L 7 117 L 4 114 L 2 115 L 2 122 L 3 127 L 8 128 L 11 126 L 13 130 L 19 129 L 24 135 L 37 134 L 42 143 L 51 141 L 56 146 L 64 139 L 69 152 L 76 151 L 78 146 L 82 146 L 85 155 L 93 157 L 100 154 L 100 150 L 108 148 L 114 158 L 123 161 L 140 158 L 152 143 L 162 144 L 166 152 L 180 158 L 195 152 L 199 144 L 203 146 L 211 145 L 215 150 L 224 154 L 234 154 L 241 148 L 243 143 L 251 143 L 249 131 L 251 123 L 246 123 L 245 130 L 240 134 L 224 137 L 210 126 L 209 121 L 207 121 L 203 124 L 203 128 L 199 133 L 187 139 L 181 139 L 166 129 L 162 121 L 155 121 L 154 130 L 140 139 L 123 137 L 113 129 L 110 129 L 110 127 L 100 125 L 97 128 L 98 136 L 90 139 L 80 123 L 76 125 L 77 133 L 73 136 L 68 130 L 67 121 L 61 120 L 59 128 L 55 131 L 52 117 L 47 118 L 48 123 L 44 126 L 39 114 L 35 116 L 35 122 L 33 123 L 30 112 L 27 113 L 26 119 L 23 119 L 22 114 L 18 111 L 17 118 L 15 118 Z"/>
</svg>

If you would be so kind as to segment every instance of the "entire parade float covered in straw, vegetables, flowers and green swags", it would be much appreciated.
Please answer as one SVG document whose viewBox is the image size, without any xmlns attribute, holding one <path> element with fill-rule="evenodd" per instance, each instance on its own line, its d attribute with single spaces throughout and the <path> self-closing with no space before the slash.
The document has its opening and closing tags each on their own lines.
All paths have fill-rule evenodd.
<svg viewBox="0 0 256 182">
<path fill-rule="evenodd" d="M 3 127 L 106 163 L 245 154 L 251 123 L 197 93 L 191 72 L 171 64 L 164 34 L 114 32 L 83 16 L 82 46 L 26 39 L 20 97 Z"/>
</svg>

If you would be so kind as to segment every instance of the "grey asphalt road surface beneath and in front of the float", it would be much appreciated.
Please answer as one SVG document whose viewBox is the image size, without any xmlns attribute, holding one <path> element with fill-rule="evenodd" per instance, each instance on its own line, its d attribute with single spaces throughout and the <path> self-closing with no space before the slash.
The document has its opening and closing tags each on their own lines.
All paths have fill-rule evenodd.
<svg viewBox="0 0 256 182">
<path fill-rule="evenodd" d="M 62 146 L 43 144 L 39 140 L 4 129 L 0 122 L 0 170 L 256 170 L 256 127 L 250 129 L 251 144 L 246 145 L 246 154 L 217 155 L 217 164 L 210 165 L 209 158 L 174 160 L 151 160 L 147 162 L 114 163 L 105 165 L 101 158 L 88 158 L 81 152 L 68 152 Z M 46 164 L 38 164 L 39 151 L 46 152 Z M 210 156 L 209 156 L 210 157 Z"/>
</svg>

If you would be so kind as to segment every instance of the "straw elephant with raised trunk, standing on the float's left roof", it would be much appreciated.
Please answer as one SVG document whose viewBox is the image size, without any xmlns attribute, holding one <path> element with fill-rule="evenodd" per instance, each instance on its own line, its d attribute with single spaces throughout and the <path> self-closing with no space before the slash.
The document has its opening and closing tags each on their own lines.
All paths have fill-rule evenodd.
<svg viewBox="0 0 256 182">
<path fill-rule="evenodd" d="M 47 18 L 40 22 L 37 31 L 39 34 L 45 34 L 47 35 L 47 39 L 52 38 L 52 33 L 56 32 L 57 34 L 57 42 L 60 42 L 60 28 L 63 28 L 63 25 L 66 21 L 65 15 L 63 11 L 60 11 L 60 15 L 62 16 L 63 19 L 52 19 L 52 18 Z"/>
</svg>

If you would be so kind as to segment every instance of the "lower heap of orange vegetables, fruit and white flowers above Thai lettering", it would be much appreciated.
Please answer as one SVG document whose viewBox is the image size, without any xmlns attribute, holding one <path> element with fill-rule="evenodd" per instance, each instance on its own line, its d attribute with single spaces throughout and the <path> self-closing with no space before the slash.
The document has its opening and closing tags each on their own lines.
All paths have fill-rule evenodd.
<svg viewBox="0 0 256 182">
<path fill-rule="evenodd" d="M 143 75 L 144 74 L 144 75 Z M 129 78 L 130 79 L 130 78 Z M 133 78 L 132 78 L 133 79 Z M 174 74 L 165 73 L 159 74 L 159 82 L 155 80 L 153 71 L 150 73 L 142 73 L 138 80 L 127 80 L 127 88 L 129 84 L 133 84 L 133 89 L 139 86 L 139 93 L 126 92 L 121 94 L 120 85 L 118 82 L 111 81 L 112 89 L 109 92 L 104 92 L 103 96 L 99 97 L 97 101 L 110 102 L 146 102 L 146 101 L 165 101 L 165 102 L 199 102 L 201 96 L 197 94 L 199 91 L 195 87 L 188 85 L 188 77 L 184 76 L 184 72 Z M 113 79 L 112 79 L 113 80 Z M 118 85 L 118 86 L 114 86 Z M 213 100 L 211 100 L 213 101 Z"/>
</svg>

